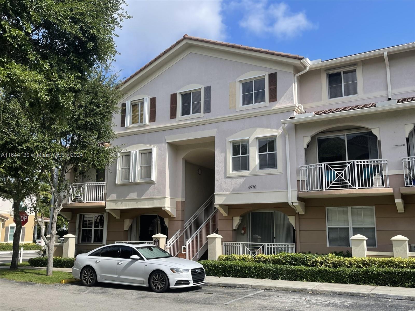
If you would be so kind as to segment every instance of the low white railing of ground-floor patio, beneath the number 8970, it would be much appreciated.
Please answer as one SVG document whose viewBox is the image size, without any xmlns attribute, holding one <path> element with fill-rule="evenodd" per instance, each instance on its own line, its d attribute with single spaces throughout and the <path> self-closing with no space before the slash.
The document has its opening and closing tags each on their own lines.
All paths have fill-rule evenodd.
<svg viewBox="0 0 415 311">
<path fill-rule="evenodd" d="M 278 253 L 295 253 L 294 243 L 252 243 L 252 242 L 223 242 L 224 255 L 273 255 Z"/>
</svg>

